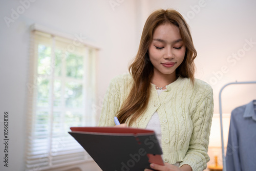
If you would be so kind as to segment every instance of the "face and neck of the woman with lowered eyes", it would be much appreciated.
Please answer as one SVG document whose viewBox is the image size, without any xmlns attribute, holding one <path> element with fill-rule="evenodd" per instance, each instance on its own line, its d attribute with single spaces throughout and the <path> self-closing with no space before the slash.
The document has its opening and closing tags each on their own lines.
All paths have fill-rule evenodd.
<svg viewBox="0 0 256 171">
<path fill-rule="evenodd" d="M 150 61 L 154 66 L 154 75 L 169 75 L 175 78 L 175 71 L 181 65 L 185 51 L 186 47 L 177 26 L 173 24 L 158 26 L 148 47 Z"/>
</svg>

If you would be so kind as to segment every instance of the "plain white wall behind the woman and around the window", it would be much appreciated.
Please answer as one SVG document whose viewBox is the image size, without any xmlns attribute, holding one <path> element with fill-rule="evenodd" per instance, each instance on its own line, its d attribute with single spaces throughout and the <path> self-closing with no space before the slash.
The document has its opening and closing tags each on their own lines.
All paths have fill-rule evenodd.
<svg viewBox="0 0 256 171">
<path fill-rule="evenodd" d="M 19 0 L 0 0 L 0 135 L 3 134 L 3 113 L 9 111 L 8 170 L 24 170 L 25 167 L 28 41 L 29 26 L 33 23 L 70 35 L 82 34 L 101 47 L 97 61 L 96 105 L 99 107 L 110 79 L 126 72 L 127 63 L 136 55 L 146 17 L 158 8 L 174 8 L 189 20 L 198 51 L 196 77 L 209 82 L 214 89 L 215 113 L 219 113 L 218 95 L 224 84 L 256 80 L 256 44 L 252 47 L 245 45 L 245 39 L 256 42 L 254 1 L 124 0 L 119 1 L 122 3 L 114 10 L 108 0 L 30 1 L 24 13 L 7 27 L 4 17 L 11 18 L 12 9 L 17 11 L 21 4 Z M 250 50 L 243 51 L 244 45 Z M 241 58 L 229 58 L 233 53 L 242 52 L 245 54 L 240 54 Z M 221 71 L 223 67 L 225 69 Z M 255 98 L 255 85 L 230 86 L 223 92 L 223 111 L 230 113 L 236 106 Z M 1 156 L 2 151 L 1 143 Z M 93 166 L 87 164 L 84 167 Z M 3 170 L 3 164 L 0 168 Z"/>
</svg>

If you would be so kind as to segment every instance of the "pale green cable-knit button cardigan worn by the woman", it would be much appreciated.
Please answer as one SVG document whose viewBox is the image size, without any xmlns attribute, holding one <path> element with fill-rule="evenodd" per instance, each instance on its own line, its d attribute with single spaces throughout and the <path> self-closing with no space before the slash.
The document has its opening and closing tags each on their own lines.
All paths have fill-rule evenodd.
<svg viewBox="0 0 256 171">
<path fill-rule="evenodd" d="M 105 94 L 99 126 L 114 126 L 114 116 L 129 95 L 133 83 L 130 74 L 112 79 Z M 132 124 L 145 129 L 157 111 L 162 132 L 163 160 L 170 164 L 188 164 L 194 171 L 206 168 L 211 119 L 214 110 L 212 89 L 209 84 L 195 79 L 179 77 L 166 86 L 160 96 L 153 84 L 148 106 Z M 129 123 L 129 120 L 126 121 Z"/>
</svg>

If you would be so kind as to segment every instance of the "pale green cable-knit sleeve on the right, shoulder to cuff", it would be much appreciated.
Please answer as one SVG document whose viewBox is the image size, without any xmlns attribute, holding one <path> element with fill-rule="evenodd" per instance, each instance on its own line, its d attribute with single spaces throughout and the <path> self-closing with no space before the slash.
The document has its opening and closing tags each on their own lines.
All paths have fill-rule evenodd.
<svg viewBox="0 0 256 171">
<path fill-rule="evenodd" d="M 204 170 L 210 160 L 207 151 L 209 144 L 210 126 L 214 112 L 214 100 L 212 89 L 209 85 L 205 86 L 202 93 L 197 95 L 196 108 L 191 116 L 193 122 L 193 132 L 189 141 L 188 151 L 180 163 L 190 165 L 193 171 Z"/>
</svg>

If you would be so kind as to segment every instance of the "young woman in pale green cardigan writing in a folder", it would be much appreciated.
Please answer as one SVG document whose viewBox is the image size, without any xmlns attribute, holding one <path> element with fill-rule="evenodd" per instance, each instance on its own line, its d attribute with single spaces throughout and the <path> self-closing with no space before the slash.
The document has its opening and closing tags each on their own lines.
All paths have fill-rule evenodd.
<svg viewBox="0 0 256 171">
<path fill-rule="evenodd" d="M 194 78 L 197 52 L 188 26 L 175 10 L 157 10 L 146 20 L 130 74 L 114 78 L 106 92 L 99 126 L 155 130 L 164 166 L 155 170 L 203 170 L 213 98 L 211 87 Z M 145 169 L 150 170 L 150 169 Z"/>
</svg>

